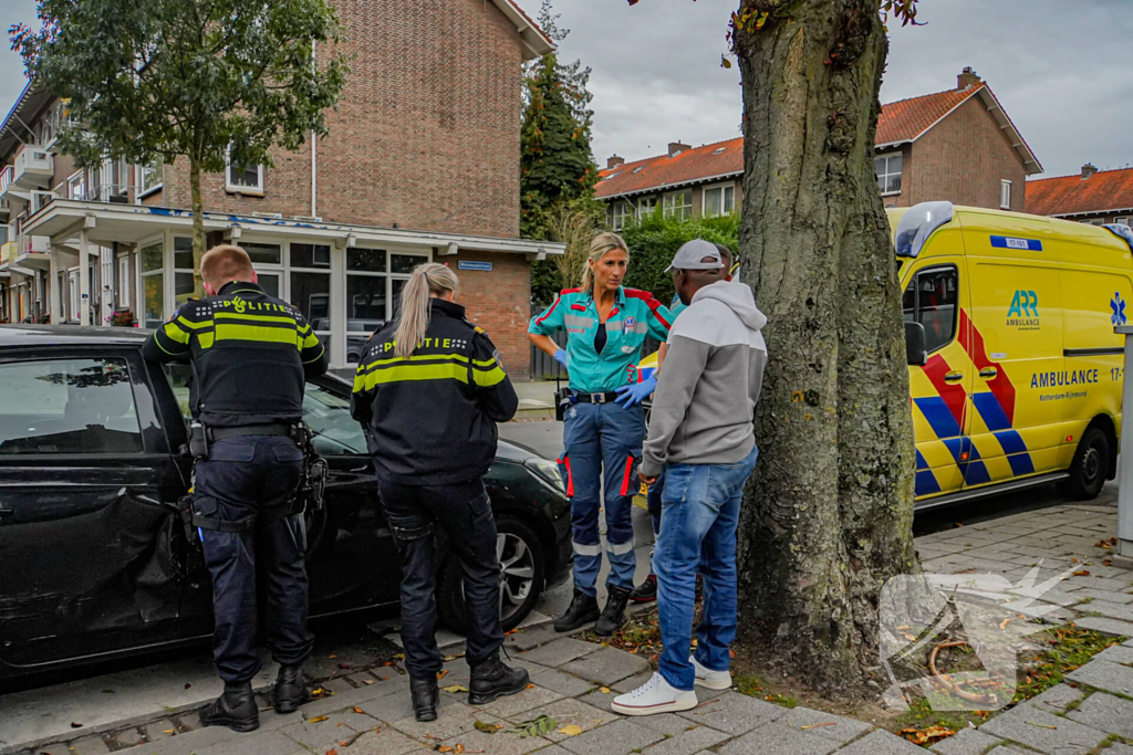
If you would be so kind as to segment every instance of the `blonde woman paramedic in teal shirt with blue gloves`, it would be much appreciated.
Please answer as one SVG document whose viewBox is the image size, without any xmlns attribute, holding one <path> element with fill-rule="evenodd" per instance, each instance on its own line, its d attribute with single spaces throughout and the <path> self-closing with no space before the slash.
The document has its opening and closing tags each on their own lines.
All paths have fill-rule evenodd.
<svg viewBox="0 0 1133 755">
<path fill-rule="evenodd" d="M 595 632 L 613 634 L 621 626 L 633 590 L 633 525 L 630 520 L 637 464 L 645 440 L 641 402 L 657 386 L 638 383 L 637 363 L 646 335 L 668 337 L 668 310 L 645 291 L 622 288 L 629 250 L 616 233 L 603 233 L 590 244 L 582 288 L 563 291 L 531 320 L 531 343 L 570 370 L 570 405 L 565 411 L 559 469 L 571 499 L 574 546 L 574 600 L 555 629 L 570 632 L 598 619 Z M 566 349 L 551 334 L 566 331 Z M 602 566 L 598 509 L 604 474 L 608 598 L 598 615 L 596 583 Z"/>
</svg>

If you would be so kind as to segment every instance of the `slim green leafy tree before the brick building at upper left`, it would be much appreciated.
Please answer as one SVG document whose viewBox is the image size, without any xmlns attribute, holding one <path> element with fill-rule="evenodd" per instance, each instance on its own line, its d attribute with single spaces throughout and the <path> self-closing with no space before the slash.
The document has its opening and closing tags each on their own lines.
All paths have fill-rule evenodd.
<svg viewBox="0 0 1133 755">
<path fill-rule="evenodd" d="M 271 164 L 327 132 L 348 66 L 325 0 L 39 0 L 41 26 L 12 49 L 43 91 L 68 101 L 60 149 L 80 168 L 107 157 L 189 162 L 194 266 L 204 254 L 201 171 Z M 315 63 L 316 44 L 318 62 Z"/>
</svg>

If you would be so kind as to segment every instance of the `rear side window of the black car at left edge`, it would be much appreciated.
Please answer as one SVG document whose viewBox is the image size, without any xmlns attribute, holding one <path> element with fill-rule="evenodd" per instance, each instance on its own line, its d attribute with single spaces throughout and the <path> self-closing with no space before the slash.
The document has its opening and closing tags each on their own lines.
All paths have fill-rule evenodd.
<svg viewBox="0 0 1133 755">
<path fill-rule="evenodd" d="M 140 454 L 123 359 L 0 364 L 0 454 Z"/>
</svg>

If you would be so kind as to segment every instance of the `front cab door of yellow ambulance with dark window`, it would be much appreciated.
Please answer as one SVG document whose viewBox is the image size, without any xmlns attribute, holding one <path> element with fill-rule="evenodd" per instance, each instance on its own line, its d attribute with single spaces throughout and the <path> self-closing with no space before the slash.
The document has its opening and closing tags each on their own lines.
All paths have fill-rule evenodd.
<svg viewBox="0 0 1133 755">
<path fill-rule="evenodd" d="M 912 268 L 905 321 L 925 326 L 928 362 L 909 368 L 917 434 L 917 497 L 956 492 L 978 461 L 968 437 L 972 364 L 964 258 L 932 257 Z"/>
</svg>

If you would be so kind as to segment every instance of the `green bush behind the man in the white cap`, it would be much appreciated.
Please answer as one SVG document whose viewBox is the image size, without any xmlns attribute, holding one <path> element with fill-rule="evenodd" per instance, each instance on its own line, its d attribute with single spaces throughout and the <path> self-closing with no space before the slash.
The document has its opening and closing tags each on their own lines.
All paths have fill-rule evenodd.
<svg viewBox="0 0 1133 755">
<path fill-rule="evenodd" d="M 630 249 L 625 285 L 648 291 L 667 304 L 673 300 L 673 274 L 665 268 L 672 264 L 676 250 L 687 241 L 704 239 L 734 252 L 740 246 L 739 233 L 738 214 L 682 221 L 665 217 L 658 207 L 640 220 L 630 221 L 621 231 Z"/>
</svg>

